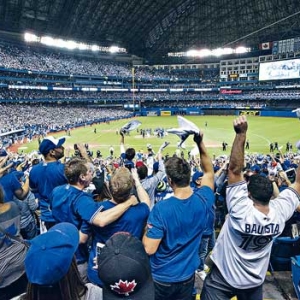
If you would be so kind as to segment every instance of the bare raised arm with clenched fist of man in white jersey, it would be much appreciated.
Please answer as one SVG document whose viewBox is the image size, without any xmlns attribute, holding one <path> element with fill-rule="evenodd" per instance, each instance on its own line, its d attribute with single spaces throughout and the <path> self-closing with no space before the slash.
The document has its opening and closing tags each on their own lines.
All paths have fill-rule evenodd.
<svg viewBox="0 0 300 300">
<path fill-rule="evenodd" d="M 243 181 L 244 149 L 248 123 L 246 116 L 239 116 L 233 121 L 235 138 L 233 141 L 228 167 L 228 183 Z"/>
</svg>

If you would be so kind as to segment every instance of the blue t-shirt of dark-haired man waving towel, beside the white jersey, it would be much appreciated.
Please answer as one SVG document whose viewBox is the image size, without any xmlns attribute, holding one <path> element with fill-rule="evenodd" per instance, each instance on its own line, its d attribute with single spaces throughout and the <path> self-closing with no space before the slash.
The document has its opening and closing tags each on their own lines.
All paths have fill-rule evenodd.
<svg viewBox="0 0 300 300">
<path fill-rule="evenodd" d="M 150 256 L 155 280 L 180 282 L 194 274 L 199 265 L 201 236 L 214 200 L 213 191 L 203 186 L 187 199 L 172 196 L 153 207 L 146 236 L 161 239 L 156 253 Z"/>
</svg>

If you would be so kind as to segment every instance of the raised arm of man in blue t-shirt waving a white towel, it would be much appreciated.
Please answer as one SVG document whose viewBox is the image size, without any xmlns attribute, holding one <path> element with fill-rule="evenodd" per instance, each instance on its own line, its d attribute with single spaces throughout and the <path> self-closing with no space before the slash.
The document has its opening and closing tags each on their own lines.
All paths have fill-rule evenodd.
<svg viewBox="0 0 300 300">
<path fill-rule="evenodd" d="M 212 160 L 208 155 L 203 142 L 203 133 L 194 134 L 194 142 L 197 144 L 200 153 L 201 169 L 204 173 L 201 181 L 201 186 L 208 186 L 214 190 L 214 169 Z"/>
</svg>

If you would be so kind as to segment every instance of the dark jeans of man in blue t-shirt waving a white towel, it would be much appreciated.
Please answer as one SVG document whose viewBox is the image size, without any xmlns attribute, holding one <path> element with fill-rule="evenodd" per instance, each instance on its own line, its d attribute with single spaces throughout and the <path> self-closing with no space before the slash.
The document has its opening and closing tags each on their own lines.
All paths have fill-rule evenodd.
<svg viewBox="0 0 300 300">
<path fill-rule="evenodd" d="M 195 275 L 180 282 L 158 282 L 154 280 L 155 300 L 191 300 Z"/>
</svg>

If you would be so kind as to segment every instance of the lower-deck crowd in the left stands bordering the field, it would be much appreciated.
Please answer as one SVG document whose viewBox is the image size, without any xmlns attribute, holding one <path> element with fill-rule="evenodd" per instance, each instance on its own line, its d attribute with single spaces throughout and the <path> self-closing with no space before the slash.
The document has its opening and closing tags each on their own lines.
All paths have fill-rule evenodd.
<svg viewBox="0 0 300 300">
<path fill-rule="evenodd" d="M 132 115 L 124 109 L 74 105 L 0 104 L 0 109 L 3 112 L 0 141 L 6 146 L 11 146 L 15 141 L 45 136 L 49 132 L 67 131 Z"/>
</svg>

